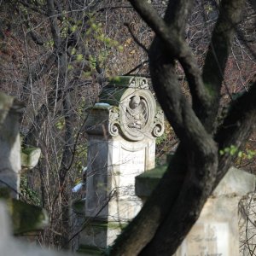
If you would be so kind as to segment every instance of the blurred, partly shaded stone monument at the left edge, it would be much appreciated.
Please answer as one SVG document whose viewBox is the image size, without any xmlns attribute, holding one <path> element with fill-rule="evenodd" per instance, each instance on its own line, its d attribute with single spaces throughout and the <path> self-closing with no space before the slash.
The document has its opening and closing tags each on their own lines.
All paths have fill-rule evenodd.
<svg viewBox="0 0 256 256">
<path fill-rule="evenodd" d="M 49 223 L 43 208 L 17 200 L 21 164 L 24 169 L 32 168 L 38 163 L 40 155 L 39 148 L 27 148 L 23 153 L 20 151 L 19 119 L 22 108 L 24 105 L 21 102 L 0 92 L 0 200 L 8 201 L 7 208 L 12 220 L 13 233 L 17 236 L 39 232 Z M 1 214 L 0 216 L 2 217 Z M 3 219 L 2 221 L 4 222 Z M 2 229 L 1 224 L 0 226 Z"/>
</svg>

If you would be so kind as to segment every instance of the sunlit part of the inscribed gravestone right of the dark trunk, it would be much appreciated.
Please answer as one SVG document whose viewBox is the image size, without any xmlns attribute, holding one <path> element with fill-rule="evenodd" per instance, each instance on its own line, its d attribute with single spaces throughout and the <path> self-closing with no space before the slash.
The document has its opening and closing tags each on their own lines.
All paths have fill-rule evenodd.
<svg viewBox="0 0 256 256">
<path fill-rule="evenodd" d="M 175 256 L 239 256 L 239 202 L 255 189 L 255 176 L 230 168 Z"/>
</svg>

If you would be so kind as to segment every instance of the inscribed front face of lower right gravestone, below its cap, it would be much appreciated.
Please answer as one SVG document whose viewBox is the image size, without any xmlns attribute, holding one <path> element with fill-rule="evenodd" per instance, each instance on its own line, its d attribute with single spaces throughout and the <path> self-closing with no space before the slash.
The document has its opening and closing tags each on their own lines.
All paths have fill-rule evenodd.
<svg viewBox="0 0 256 256">
<path fill-rule="evenodd" d="M 175 256 L 238 256 L 238 201 L 232 195 L 208 199 Z"/>
</svg>

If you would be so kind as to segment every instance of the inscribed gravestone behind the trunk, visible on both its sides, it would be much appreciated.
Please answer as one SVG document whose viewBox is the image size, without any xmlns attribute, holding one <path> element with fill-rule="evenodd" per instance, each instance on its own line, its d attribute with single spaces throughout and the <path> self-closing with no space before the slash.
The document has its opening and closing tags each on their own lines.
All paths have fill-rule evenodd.
<svg viewBox="0 0 256 256">
<path fill-rule="evenodd" d="M 165 172 L 166 166 L 154 168 L 136 177 L 137 195 L 147 198 Z M 255 175 L 231 167 L 204 205 L 200 218 L 177 249 L 175 256 L 247 256 L 255 249 L 253 195 Z M 251 203 L 249 205 L 249 202 Z M 185 203 L 185 202 L 184 202 Z M 242 203 L 242 207 L 241 207 Z M 249 209 L 247 207 L 250 206 Z M 243 209 L 243 211 L 241 211 Z M 246 211 L 244 209 L 247 209 Z M 245 214 L 247 212 L 247 214 Z M 252 221 L 253 220 L 253 221 Z M 249 227 L 254 227 L 253 231 Z M 249 235 L 249 236 L 247 236 Z M 245 241 L 247 240 L 247 244 Z M 241 243 L 241 240 L 244 242 Z"/>
</svg>

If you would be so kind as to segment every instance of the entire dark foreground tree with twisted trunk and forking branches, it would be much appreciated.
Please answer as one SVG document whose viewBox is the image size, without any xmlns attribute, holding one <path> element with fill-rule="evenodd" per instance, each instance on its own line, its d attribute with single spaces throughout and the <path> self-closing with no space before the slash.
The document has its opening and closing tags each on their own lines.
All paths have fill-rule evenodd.
<svg viewBox="0 0 256 256">
<path fill-rule="evenodd" d="M 150 74 L 180 144 L 157 188 L 108 253 L 172 255 L 231 165 L 233 156 L 220 155 L 219 150 L 230 145 L 241 148 L 255 127 L 254 81 L 247 93 L 230 103 L 216 129 L 224 68 L 245 1 L 222 1 L 202 71 L 184 38 L 192 1 L 169 1 L 164 18 L 146 0 L 130 2 L 155 32 L 148 53 Z M 177 61 L 186 75 L 192 104 L 178 83 Z"/>
</svg>

